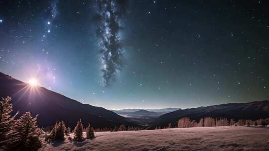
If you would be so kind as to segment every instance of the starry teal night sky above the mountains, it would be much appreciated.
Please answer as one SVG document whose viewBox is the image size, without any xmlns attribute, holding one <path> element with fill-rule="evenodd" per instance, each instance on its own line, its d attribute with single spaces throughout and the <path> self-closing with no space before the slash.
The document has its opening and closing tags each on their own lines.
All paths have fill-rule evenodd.
<svg viewBox="0 0 269 151">
<path fill-rule="evenodd" d="M 267 0 L 0 0 L 0 72 L 108 109 L 269 99 Z"/>
</svg>

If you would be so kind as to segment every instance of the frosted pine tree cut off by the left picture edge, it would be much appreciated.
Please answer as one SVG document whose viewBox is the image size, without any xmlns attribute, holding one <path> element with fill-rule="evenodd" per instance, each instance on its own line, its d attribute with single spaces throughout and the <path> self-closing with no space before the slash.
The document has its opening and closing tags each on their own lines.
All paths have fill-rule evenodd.
<svg viewBox="0 0 269 151">
<path fill-rule="evenodd" d="M 11 117 L 10 113 L 12 112 L 12 104 L 10 97 L 2 98 L 0 100 L 0 146 L 5 147 L 11 143 L 12 133 L 10 133 L 12 125 L 14 125 L 14 118 L 17 113 Z"/>
</svg>

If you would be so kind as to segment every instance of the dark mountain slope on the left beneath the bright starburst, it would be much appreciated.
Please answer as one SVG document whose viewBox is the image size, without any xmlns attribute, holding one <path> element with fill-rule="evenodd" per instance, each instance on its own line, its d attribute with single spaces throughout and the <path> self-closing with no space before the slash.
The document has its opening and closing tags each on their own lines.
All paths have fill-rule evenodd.
<svg viewBox="0 0 269 151">
<path fill-rule="evenodd" d="M 12 98 L 13 113 L 19 111 L 19 116 L 25 111 L 38 114 L 40 127 L 63 120 L 67 126 L 74 128 L 79 119 L 82 119 L 84 126 L 91 123 L 96 128 L 120 124 L 137 126 L 105 108 L 82 104 L 44 87 L 31 87 L 28 83 L 0 73 L 0 97 L 6 96 Z"/>
</svg>

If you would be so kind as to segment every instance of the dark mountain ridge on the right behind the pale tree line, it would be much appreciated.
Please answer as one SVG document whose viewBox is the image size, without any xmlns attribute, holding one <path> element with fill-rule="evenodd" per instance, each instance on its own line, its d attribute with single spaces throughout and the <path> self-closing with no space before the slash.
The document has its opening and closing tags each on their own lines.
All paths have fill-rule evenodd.
<svg viewBox="0 0 269 151">
<path fill-rule="evenodd" d="M 228 118 L 228 119 L 251 119 L 256 120 L 260 118 L 269 118 L 269 101 L 256 101 L 250 103 L 228 103 L 220 105 L 212 105 L 207 107 L 190 108 L 184 110 L 176 110 L 174 112 L 166 113 L 155 119 L 153 129 L 158 126 L 167 126 L 171 123 L 173 126 L 177 125 L 178 119 L 182 117 L 189 117 L 192 120 L 199 121 L 200 118 L 214 117 L 214 118 Z"/>
</svg>

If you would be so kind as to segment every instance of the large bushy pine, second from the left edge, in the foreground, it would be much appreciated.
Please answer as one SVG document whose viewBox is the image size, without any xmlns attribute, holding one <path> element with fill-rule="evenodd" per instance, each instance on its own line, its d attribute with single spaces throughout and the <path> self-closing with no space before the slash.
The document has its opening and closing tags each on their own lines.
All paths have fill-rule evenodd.
<svg viewBox="0 0 269 151">
<path fill-rule="evenodd" d="M 14 137 L 11 150 L 37 151 L 41 148 L 40 131 L 36 125 L 37 115 L 33 118 L 30 112 L 25 112 L 13 127 Z"/>
</svg>

